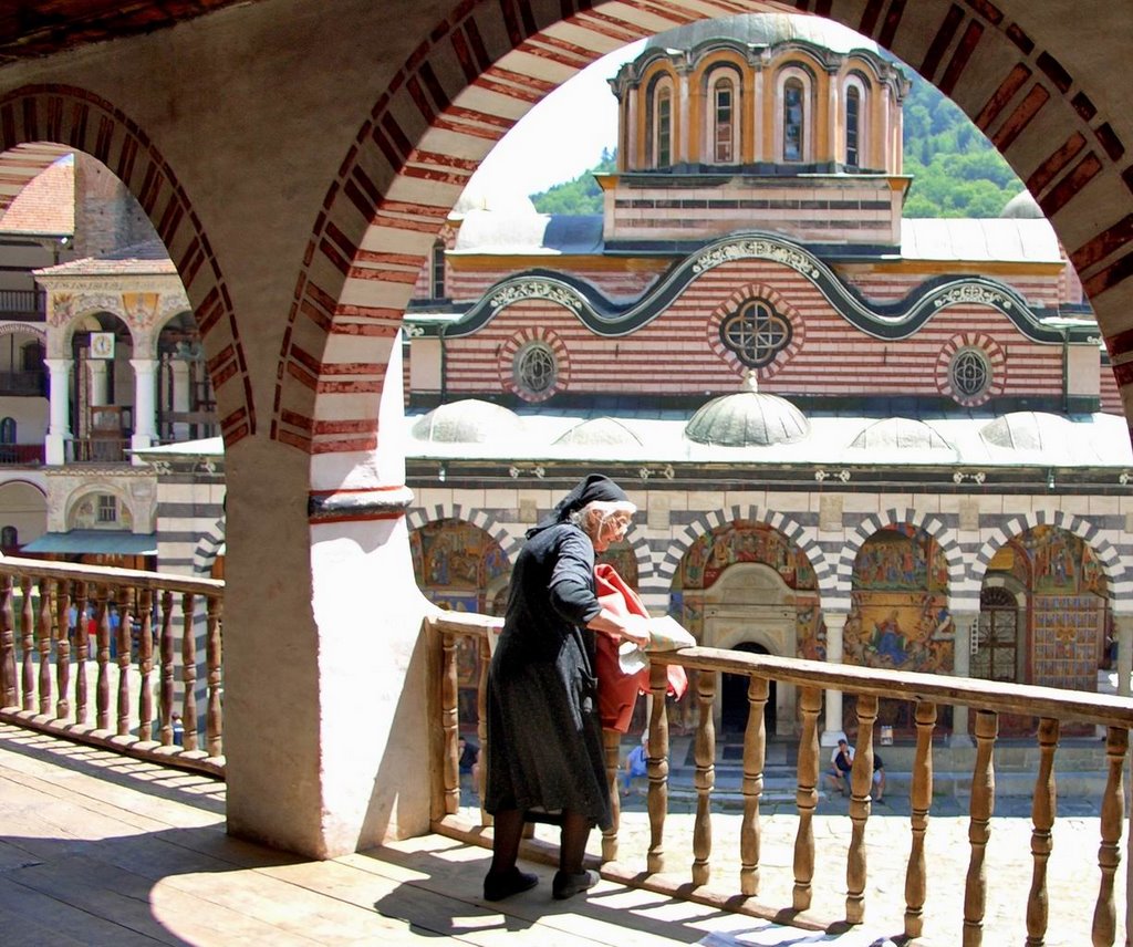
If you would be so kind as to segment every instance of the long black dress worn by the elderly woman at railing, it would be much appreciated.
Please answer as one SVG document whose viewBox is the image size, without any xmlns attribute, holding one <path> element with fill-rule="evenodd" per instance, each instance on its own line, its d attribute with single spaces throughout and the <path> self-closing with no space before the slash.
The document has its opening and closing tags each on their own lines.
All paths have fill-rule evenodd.
<svg viewBox="0 0 1133 947">
<path fill-rule="evenodd" d="M 530 536 L 516 561 L 487 688 L 488 812 L 570 810 L 612 825 L 594 676 L 594 546 L 576 526 Z"/>
</svg>

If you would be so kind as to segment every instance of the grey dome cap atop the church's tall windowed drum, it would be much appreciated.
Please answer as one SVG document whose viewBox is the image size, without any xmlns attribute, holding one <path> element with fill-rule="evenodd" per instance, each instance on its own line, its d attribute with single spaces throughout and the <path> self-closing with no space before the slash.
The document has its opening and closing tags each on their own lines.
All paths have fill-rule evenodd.
<svg viewBox="0 0 1133 947">
<path fill-rule="evenodd" d="M 700 19 L 658 33 L 645 44 L 649 50 L 692 50 L 713 40 L 732 40 L 752 46 L 773 46 L 791 40 L 806 40 L 833 52 L 850 50 L 878 52 L 877 43 L 840 23 L 823 17 L 791 14 L 740 14 L 717 19 Z"/>
</svg>

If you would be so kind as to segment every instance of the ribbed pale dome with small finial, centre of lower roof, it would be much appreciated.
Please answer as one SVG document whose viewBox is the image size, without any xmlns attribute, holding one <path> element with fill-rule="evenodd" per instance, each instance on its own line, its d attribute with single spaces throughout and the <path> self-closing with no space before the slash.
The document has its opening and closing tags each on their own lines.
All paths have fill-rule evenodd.
<svg viewBox="0 0 1133 947">
<path fill-rule="evenodd" d="M 747 391 L 714 398 L 684 426 L 690 441 L 725 447 L 791 444 L 809 433 L 802 411 L 785 398 L 757 391 L 751 376 Z"/>
</svg>

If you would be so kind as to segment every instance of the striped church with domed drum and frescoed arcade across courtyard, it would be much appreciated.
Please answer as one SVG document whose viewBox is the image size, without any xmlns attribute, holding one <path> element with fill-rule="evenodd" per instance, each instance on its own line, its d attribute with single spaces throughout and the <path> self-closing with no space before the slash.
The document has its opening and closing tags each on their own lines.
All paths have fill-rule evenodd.
<svg viewBox="0 0 1133 947">
<path fill-rule="evenodd" d="M 620 571 L 705 645 L 1109 688 L 1133 635 L 1133 455 L 1033 198 L 903 219 L 908 79 L 823 20 L 682 27 L 611 86 L 603 213 L 466 193 L 417 281 L 402 375 L 426 594 L 499 613 L 523 530 L 598 469 L 641 511 Z M 725 680 L 718 723 L 746 707 Z M 827 694 L 827 742 L 851 710 Z M 911 733 L 909 714 L 880 723 Z M 768 715 L 795 732 L 792 688 Z"/>
</svg>

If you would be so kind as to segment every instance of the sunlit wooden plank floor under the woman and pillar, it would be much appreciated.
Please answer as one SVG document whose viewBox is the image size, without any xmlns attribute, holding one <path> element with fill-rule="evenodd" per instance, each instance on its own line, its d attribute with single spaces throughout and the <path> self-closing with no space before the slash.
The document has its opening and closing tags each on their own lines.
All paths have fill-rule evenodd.
<svg viewBox="0 0 1133 947">
<path fill-rule="evenodd" d="M 0 725 L 0 944 L 629 947 L 763 927 L 607 881 L 554 902 L 543 868 L 491 905 L 483 848 L 434 835 L 310 862 L 223 825 L 222 783 Z"/>
</svg>

